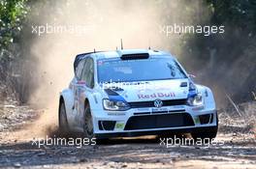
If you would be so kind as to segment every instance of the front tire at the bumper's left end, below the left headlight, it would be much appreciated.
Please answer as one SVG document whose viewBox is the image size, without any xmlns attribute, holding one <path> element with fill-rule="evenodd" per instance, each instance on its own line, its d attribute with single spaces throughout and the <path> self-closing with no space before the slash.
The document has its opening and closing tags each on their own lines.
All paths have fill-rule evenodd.
<svg viewBox="0 0 256 169">
<path fill-rule="evenodd" d="M 93 130 L 93 122 L 91 117 L 90 106 L 88 103 L 85 105 L 83 117 L 84 117 L 84 124 L 83 124 L 84 137 L 91 139 L 94 137 L 94 130 Z"/>
</svg>

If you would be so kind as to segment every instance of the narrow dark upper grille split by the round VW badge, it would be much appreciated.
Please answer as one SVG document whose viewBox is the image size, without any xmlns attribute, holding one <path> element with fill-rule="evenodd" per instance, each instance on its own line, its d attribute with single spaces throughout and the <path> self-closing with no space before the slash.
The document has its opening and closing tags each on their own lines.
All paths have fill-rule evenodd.
<svg viewBox="0 0 256 169">
<path fill-rule="evenodd" d="M 163 106 L 184 105 L 187 99 L 167 99 L 162 100 Z M 154 101 L 129 102 L 131 108 L 154 107 Z"/>
</svg>

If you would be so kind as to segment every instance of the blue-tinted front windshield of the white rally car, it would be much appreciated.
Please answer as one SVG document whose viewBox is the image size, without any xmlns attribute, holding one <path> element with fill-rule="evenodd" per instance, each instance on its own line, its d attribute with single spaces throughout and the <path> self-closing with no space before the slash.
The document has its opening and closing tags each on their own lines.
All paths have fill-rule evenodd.
<svg viewBox="0 0 256 169">
<path fill-rule="evenodd" d="M 102 59 L 97 62 L 98 82 L 131 82 L 186 78 L 172 58 L 137 60 Z"/>
</svg>

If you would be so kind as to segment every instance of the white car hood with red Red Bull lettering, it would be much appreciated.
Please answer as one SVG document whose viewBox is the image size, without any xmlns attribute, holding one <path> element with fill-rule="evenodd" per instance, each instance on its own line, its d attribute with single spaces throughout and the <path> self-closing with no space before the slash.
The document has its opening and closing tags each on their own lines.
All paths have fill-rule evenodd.
<svg viewBox="0 0 256 169">
<path fill-rule="evenodd" d="M 171 79 L 107 84 L 104 88 L 109 98 L 133 102 L 155 99 L 187 99 L 188 86 L 188 79 Z"/>
</svg>

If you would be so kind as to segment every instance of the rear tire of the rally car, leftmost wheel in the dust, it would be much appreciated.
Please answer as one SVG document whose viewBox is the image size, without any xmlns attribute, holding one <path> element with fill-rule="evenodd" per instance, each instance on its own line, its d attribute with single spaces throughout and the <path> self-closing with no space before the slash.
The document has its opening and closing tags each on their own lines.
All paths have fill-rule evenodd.
<svg viewBox="0 0 256 169">
<path fill-rule="evenodd" d="M 64 101 L 60 101 L 59 103 L 59 131 L 61 134 L 68 134 L 69 133 L 69 125 L 67 120 L 67 114 L 66 114 L 66 107 Z"/>
</svg>

